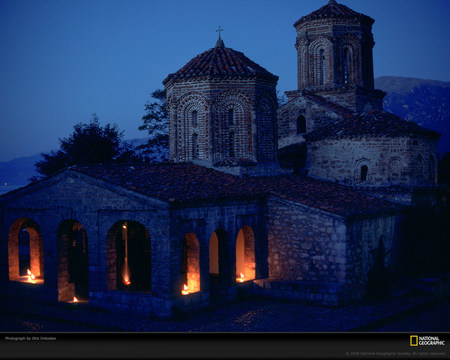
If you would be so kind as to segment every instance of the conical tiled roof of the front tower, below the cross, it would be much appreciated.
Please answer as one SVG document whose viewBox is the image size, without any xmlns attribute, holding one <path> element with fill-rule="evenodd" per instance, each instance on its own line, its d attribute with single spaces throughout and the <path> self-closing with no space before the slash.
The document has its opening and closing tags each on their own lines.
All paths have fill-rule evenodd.
<svg viewBox="0 0 450 360">
<path fill-rule="evenodd" d="M 272 81 L 278 80 L 278 76 L 253 62 L 243 53 L 225 47 L 223 41 L 219 39 L 214 48 L 197 55 L 176 73 L 169 74 L 163 84 L 169 79 L 202 76 L 262 77 Z"/>
</svg>

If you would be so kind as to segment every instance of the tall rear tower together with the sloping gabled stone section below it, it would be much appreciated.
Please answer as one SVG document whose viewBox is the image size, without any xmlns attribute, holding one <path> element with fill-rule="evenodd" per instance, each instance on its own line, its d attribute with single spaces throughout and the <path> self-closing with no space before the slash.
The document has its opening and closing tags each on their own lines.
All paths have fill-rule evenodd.
<svg viewBox="0 0 450 360">
<path fill-rule="evenodd" d="M 298 89 L 278 111 L 280 148 L 303 134 L 355 113 L 383 110 L 374 89 L 374 20 L 330 0 L 294 23 Z"/>
</svg>

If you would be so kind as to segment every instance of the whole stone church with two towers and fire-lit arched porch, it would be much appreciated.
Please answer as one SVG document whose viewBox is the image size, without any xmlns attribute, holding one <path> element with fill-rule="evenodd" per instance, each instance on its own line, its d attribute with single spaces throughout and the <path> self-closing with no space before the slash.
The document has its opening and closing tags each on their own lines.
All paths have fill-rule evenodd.
<svg viewBox="0 0 450 360">
<path fill-rule="evenodd" d="M 80 164 L 0 197 L 0 278 L 157 316 L 239 293 L 362 299 L 436 185 L 439 138 L 383 112 L 373 22 L 334 0 L 300 18 L 280 107 L 278 77 L 219 36 L 163 81 L 170 162 Z"/>
</svg>

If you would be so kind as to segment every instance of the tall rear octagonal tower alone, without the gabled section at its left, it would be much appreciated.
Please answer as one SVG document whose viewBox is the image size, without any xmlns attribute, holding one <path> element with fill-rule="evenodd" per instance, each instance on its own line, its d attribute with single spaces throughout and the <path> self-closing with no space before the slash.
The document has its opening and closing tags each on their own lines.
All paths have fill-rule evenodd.
<svg viewBox="0 0 450 360">
<path fill-rule="evenodd" d="M 320 94 L 325 97 L 333 90 L 350 91 L 347 108 L 363 111 L 370 104 L 381 110 L 384 95 L 374 90 L 373 23 L 335 0 L 295 22 L 298 90 L 325 92 Z"/>
</svg>

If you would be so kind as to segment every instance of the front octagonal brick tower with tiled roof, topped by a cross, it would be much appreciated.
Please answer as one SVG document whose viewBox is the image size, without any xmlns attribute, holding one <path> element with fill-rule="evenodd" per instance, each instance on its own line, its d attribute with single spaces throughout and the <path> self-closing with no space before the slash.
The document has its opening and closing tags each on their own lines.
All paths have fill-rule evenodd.
<svg viewBox="0 0 450 360">
<path fill-rule="evenodd" d="M 169 112 L 169 156 L 236 174 L 277 169 L 278 77 L 243 53 L 214 48 L 163 81 Z"/>
</svg>

